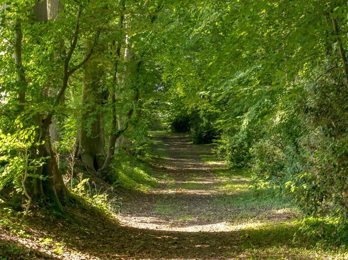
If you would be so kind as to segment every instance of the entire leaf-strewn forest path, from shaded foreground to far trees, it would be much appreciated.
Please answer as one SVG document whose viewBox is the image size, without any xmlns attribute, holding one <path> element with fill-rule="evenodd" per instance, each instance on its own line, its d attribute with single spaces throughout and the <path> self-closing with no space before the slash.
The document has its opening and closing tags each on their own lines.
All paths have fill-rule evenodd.
<svg viewBox="0 0 348 260">
<path fill-rule="evenodd" d="M 123 190 L 116 219 L 83 201 L 65 208 L 70 220 L 38 211 L 21 223 L 5 213 L 0 259 L 346 259 L 293 240 L 296 210 L 274 190 L 251 185 L 248 171 L 227 169 L 211 145 L 183 134 L 152 140 L 152 170 L 143 174 L 157 185 Z"/>
</svg>

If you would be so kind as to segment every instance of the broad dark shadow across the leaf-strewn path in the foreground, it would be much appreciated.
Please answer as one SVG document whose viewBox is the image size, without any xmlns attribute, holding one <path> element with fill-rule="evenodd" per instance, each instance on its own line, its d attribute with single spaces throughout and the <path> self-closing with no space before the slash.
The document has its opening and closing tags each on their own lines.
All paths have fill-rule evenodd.
<svg viewBox="0 0 348 260">
<path fill-rule="evenodd" d="M 95 209 L 70 208 L 69 213 L 76 216 L 76 222 L 51 222 L 42 216 L 40 229 L 37 217 L 28 219 L 28 228 L 33 236 L 52 238 L 87 257 L 80 259 L 244 259 L 258 250 L 272 255 L 273 247 L 305 249 L 303 243 L 291 241 L 297 225 L 261 224 L 258 229 L 246 226 L 242 231 L 193 233 L 132 228 Z M 314 259 L 303 257 L 293 259 Z"/>
</svg>

